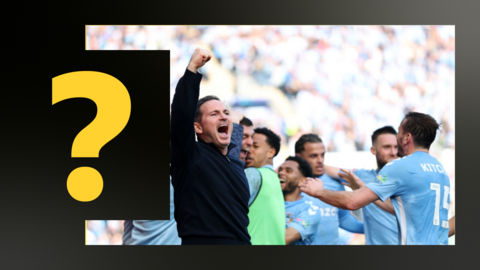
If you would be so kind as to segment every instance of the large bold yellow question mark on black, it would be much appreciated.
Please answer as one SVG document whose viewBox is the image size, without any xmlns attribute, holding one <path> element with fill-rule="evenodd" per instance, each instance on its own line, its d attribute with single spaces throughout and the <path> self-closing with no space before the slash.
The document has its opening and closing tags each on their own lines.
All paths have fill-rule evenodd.
<svg viewBox="0 0 480 270">
<path fill-rule="evenodd" d="M 96 71 L 76 71 L 52 79 L 52 105 L 70 98 L 88 98 L 97 105 L 97 116 L 72 144 L 72 157 L 98 158 L 100 149 L 117 136 L 130 118 L 127 88 L 115 77 Z M 73 170 L 67 190 L 77 201 L 93 201 L 103 190 L 102 175 L 91 167 Z"/>
</svg>

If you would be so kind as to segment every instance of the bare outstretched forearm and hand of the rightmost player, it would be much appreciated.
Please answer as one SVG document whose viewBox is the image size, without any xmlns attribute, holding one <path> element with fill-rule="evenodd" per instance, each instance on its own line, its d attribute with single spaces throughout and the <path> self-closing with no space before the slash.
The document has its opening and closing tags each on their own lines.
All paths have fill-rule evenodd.
<svg viewBox="0 0 480 270">
<path fill-rule="evenodd" d="M 347 210 L 357 210 L 379 199 L 377 194 L 368 187 L 362 187 L 353 192 L 332 191 L 323 188 L 322 180 L 310 177 L 300 184 L 300 190 L 330 205 Z"/>
</svg>

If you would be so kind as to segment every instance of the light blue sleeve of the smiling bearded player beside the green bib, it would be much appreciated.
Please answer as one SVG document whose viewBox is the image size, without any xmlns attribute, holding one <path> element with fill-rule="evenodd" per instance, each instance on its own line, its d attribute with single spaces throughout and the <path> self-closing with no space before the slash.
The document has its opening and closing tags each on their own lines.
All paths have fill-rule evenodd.
<svg viewBox="0 0 480 270">
<path fill-rule="evenodd" d="M 294 216 L 292 222 L 287 225 L 287 228 L 294 228 L 297 230 L 300 233 L 302 240 L 315 235 L 318 226 L 320 225 L 320 215 L 317 215 L 317 211 L 318 206 L 305 203 L 301 211 Z"/>
</svg>

